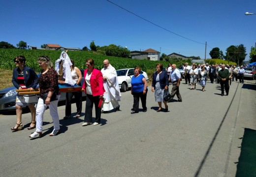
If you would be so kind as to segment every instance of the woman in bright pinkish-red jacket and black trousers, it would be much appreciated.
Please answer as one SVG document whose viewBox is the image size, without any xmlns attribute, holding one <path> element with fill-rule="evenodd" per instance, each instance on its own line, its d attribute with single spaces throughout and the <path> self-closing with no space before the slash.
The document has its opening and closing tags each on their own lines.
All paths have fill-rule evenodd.
<svg viewBox="0 0 256 177">
<path fill-rule="evenodd" d="M 99 100 L 103 98 L 103 77 L 100 70 L 94 68 L 94 60 L 86 60 L 87 69 L 84 71 L 83 90 L 86 93 L 85 119 L 82 126 L 91 125 L 93 121 L 93 106 L 95 105 L 96 118 L 93 125 L 100 123 L 101 108 L 98 107 Z"/>
</svg>

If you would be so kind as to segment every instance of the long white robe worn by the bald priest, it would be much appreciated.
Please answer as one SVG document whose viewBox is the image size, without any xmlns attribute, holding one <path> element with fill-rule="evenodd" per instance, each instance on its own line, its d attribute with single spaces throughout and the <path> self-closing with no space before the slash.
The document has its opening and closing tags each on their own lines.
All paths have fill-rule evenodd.
<svg viewBox="0 0 256 177">
<path fill-rule="evenodd" d="M 110 111 L 115 107 L 119 106 L 118 101 L 120 101 L 120 98 L 122 96 L 121 91 L 119 89 L 117 72 L 116 69 L 113 66 L 111 66 L 111 64 L 109 64 L 107 68 L 101 69 L 101 73 L 103 77 L 107 77 L 107 80 L 103 81 L 103 86 L 105 89 L 105 102 L 103 105 L 103 111 Z M 113 84 L 114 87 L 108 80 Z"/>
</svg>

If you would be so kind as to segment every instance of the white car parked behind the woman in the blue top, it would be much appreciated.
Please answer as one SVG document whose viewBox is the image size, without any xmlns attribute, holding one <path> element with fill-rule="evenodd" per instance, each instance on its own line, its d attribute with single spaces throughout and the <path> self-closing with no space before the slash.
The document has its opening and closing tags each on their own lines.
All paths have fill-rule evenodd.
<svg viewBox="0 0 256 177">
<path fill-rule="evenodd" d="M 140 74 L 143 74 L 147 82 L 149 81 L 149 78 L 146 72 L 141 71 Z M 121 91 L 125 92 L 129 88 L 131 88 L 130 82 L 133 75 L 134 75 L 134 68 L 117 70 L 118 84 Z"/>
</svg>

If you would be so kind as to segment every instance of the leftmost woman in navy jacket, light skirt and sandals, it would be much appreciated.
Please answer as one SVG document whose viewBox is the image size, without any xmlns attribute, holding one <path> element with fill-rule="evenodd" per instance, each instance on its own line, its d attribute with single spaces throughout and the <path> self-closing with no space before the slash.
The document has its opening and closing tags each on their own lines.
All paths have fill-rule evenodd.
<svg viewBox="0 0 256 177">
<path fill-rule="evenodd" d="M 34 70 L 28 66 L 25 66 L 26 58 L 24 56 L 17 56 L 13 60 L 15 63 L 15 68 L 13 69 L 12 74 L 12 84 L 17 89 L 30 89 L 34 91 L 38 84 L 38 76 Z M 30 95 L 19 95 L 16 97 L 16 116 L 17 123 L 14 127 L 11 128 L 11 131 L 22 130 L 23 124 L 21 122 L 22 107 L 28 106 L 31 112 L 31 123 L 28 127 L 29 130 L 35 128 L 35 107 L 37 104 L 37 96 L 35 94 Z"/>
</svg>

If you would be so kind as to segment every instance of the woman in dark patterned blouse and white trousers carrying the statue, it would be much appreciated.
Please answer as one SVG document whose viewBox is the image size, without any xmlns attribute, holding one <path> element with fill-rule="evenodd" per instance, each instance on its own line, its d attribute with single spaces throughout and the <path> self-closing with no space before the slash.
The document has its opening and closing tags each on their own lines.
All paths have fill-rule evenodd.
<svg viewBox="0 0 256 177">
<path fill-rule="evenodd" d="M 49 107 L 50 115 L 53 119 L 53 131 L 50 136 L 55 136 L 60 131 L 60 120 L 58 115 L 58 101 L 61 92 L 58 85 L 58 73 L 53 68 L 53 63 L 47 56 L 41 56 L 37 59 L 42 68 L 39 76 L 40 97 L 36 107 L 36 129 L 29 137 L 36 138 L 42 136 L 43 114 Z"/>
</svg>

